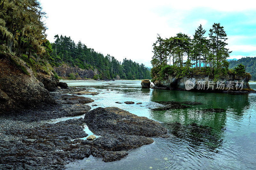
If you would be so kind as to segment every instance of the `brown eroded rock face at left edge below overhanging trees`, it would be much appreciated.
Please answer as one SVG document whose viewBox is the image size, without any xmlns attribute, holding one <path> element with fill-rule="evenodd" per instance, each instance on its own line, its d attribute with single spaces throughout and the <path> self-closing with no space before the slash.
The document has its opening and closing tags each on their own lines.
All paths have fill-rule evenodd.
<svg viewBox="0 0 256 170">
<path fill-rule="evenodd" d="M 41 103 L 54 103 L 49 92 L 36 80 L 24 61 L 10 54 L 0 54 L 0 58 L 0 114 L 5 111 L 37 107 Z M 11 58 L 16 58 L 18 64 L 22 65 L 29 75 L 10 62 Z"/>
</svg>

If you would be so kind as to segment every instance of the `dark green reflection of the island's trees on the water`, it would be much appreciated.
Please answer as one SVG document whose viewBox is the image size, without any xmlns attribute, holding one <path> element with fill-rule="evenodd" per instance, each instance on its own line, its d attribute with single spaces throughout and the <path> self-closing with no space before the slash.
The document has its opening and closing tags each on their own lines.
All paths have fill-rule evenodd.
<svg viewBox="0 0 256 170">
<path fill-rule="evenodd" d="M 244 109 L 250 104 L 248 94 L 158 89 L 153 90 L 150 100 L 161 104 L 150 110 L 151 116 L 163 122 L 172 135 L 186 140 L 193 147 L 204 146 L 212 152 L 217 152 L 215 149 L 222 145 L 225 137 L 227 110 L 228 114 L 234 114 L 240 120 Z"/>
</svg>

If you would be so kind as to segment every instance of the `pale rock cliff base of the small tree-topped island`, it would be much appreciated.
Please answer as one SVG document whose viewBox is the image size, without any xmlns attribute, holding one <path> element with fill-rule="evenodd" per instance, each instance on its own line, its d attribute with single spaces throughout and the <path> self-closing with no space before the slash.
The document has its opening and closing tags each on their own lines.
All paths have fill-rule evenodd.
<svg viewBox="0 0 256 170">
<path fill-rule="evenodd" d="M 164 80 L 153 81 L 155 84 L 153 88 L 212 92 L 255 92 L 248 83 L 250 79 L 250 74 L 244 77 L 228 74 L 217 81 L 207 75 L 192 74 L 190 77 L 182 78 L 168 76 Z"/>
</svg>

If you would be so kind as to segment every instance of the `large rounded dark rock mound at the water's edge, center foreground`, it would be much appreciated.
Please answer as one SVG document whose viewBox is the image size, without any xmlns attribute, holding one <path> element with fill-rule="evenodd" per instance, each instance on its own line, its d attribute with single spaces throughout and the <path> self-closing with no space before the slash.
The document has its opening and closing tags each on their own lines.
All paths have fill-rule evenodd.
<svg viewBox="0 0 256 170">
<path fill-rule="evenodd" d="M 88 111 L 85 113 L 84 121 L 94 134 L 101 136 L 117 133 L 153 137 L 167 133 L 167 129 L 159 122 L 139 117 L 117 107 L 99 107 Z"/>
</svg>

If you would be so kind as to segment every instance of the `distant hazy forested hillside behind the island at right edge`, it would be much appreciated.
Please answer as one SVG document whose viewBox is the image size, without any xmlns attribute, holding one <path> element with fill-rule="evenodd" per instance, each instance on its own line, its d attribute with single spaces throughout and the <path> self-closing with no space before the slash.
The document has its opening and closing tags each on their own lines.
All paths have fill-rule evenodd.
<svg viewBox="0 0 256 170">
<path fill-rule="evenodd" d="M 256 81 L 256 57 L 246 57 L 239 60 L 230 60 L 229 68 L 234 68 L 239 64 L 243 64 L 245 71 L 252 74 L 252 81 Z"/>
</svg>

